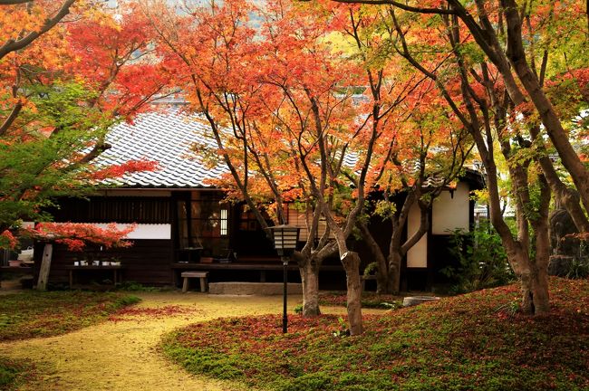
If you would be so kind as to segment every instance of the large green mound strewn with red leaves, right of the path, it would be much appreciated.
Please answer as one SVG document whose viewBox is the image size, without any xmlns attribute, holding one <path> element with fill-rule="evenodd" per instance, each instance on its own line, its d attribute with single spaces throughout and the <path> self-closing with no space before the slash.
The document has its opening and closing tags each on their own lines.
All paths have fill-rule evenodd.
<svg viewBox="0 0 589 391">
<path fill-rule="evenodd" d="M 168 335 L 189 372 L 276 390 L 587 390 L 589 281 L 551 280 L 553 310 L 517 312 L 511 285 L 365 318 L 217 319 Z"/>
</svg>

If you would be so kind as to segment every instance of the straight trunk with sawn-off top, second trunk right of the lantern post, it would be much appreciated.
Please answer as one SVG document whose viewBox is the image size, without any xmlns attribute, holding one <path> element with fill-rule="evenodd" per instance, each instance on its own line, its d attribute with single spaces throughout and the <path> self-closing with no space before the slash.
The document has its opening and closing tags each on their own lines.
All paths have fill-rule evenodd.
<svg viewBox="0 0 589 391">
<path fill-rule="evenodd" d="M 360 335 L 362 329 L 362 283 L 360 281 L 360 257 L 358 253 L 347 252 L 342 257 L 348 289 L 348 323 L 350 335 Z"/>
</svg>

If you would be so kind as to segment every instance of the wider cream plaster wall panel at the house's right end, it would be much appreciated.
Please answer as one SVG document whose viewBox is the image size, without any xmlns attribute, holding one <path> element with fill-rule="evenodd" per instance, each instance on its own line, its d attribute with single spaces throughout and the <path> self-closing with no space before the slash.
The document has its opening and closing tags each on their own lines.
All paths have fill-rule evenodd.
<svg viewBox="0 0 589 391">
<path fill-rule="evenodd" d="M 462 229 L 468 231 L 468 185 L 459 182 L 454 196 L 443 191 L 433 203 L 431 234 L 449 234 Z"/>
</svg>

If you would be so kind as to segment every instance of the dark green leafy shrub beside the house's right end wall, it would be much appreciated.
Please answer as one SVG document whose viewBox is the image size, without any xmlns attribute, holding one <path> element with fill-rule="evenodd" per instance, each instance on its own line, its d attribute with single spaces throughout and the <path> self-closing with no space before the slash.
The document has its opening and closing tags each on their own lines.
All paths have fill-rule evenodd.
<svg viewBox="0 0 589 391">
<path fill-rule="evenodd" d="M 441 272 L 454 282 L 454 293 L 478 291 L 513 281 L 514 273 L 501 239 L 488 223 L 466 234 L 454 231 L 450 241 L 450 253 L 458 264 Z"/>
</svg>

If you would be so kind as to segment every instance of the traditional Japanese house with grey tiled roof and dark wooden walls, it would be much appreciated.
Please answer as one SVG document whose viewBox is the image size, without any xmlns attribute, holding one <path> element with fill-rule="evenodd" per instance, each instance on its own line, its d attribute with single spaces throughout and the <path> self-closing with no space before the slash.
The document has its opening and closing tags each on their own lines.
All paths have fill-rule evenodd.
<svg viewBox="0 0 589 391">
<path fill-rule="evenodd" d="M 49 281 L 68 281 L 73 262 L 88 258 L 121 260 L 125 281 L 148 285 L 178 284 L 179 272 L 185 270 L 208 271 L 209 281 L 281 281 L 282 264 L 254 215 L 244 205 L 225 203 L 224 193 L 208 182 L 226 172 L 223 162 L 211 165 L 192 151 L 195 142 L 215 148 L 207 134 L 205 122 L 178 110 L 143 114 L 134 124 L 114 127 L 109 134 L 111 149 L 100 157 L 103 164 L 143 158 L 158 161 L 159 169 L 124 176 L 86 199 L 61 199 L 60 207 L 51 213 L 56 222 L 137 224 L 129 235 L 134 244 L 83 253 L 56 245 Z M 436 271 L 447 257 L 449 230 L 469 229 L 474 207 L 469 195 L 480 186 L 480 176 L 469 172 L 455 189 L 439 196 L 430 214 L 430 233 L 411 249 L 404 263 L 406 286 L 425 289 L 436 282 Z M 294 207 L 287 215 L 289 224 L 303 228 L 304 237 L 303 216 Z M 415 229 L 415 224 L 419 224 L 417 210 L 408 229 Z M 379 224 L 377 231 L 377 240 L 386 248 L 387 225 Z M 370 262 L 362 243 L 356 248 L 364 263 Z M 35 253 L 38 270 L 41 252 Z M 90 281 L 109 275 L 92 271 L 79 278 Z M 300 281 L 293 264 L 289 281 L 297 279 Z M 325 262 L 320 283 L 325 289 L 344 288 L 343 268 L 337 259 Z"/>
</svg>

